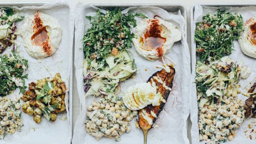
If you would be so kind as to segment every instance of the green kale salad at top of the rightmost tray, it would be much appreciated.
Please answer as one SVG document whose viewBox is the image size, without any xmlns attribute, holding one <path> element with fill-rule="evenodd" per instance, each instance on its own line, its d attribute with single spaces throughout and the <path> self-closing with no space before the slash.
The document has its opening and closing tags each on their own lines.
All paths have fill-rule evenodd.
<svg viewBox="0 0 256 144">
<path fill-rule="evenodd" d="M 234 40 L 243 31 L 241 14 L 218 10 L 217 14 L 206 14 L 196 23 L 195 40 L 199 60 L 219 60 L 231 54 Z"/>
</svg>

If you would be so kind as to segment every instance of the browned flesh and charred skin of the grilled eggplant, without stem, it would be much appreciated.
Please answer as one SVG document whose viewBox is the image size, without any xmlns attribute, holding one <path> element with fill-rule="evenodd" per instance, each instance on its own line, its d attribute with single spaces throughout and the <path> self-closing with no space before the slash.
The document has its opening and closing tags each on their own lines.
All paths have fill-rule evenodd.
<svg viewBox="0 0 256 144">
<path fill-rule="evenodd" d="M 154 73 L 151 77 L 149 77 L 147 82 L 152 83 L 152 81 L 154 81 L 156 83 L 157 92 L 160 92 L 162 94 L 162 97 L 167 101 L 167 98 L 170 94 L 170 90 L 167 90 L 163 87 L 163 84 L 159 83 L 158 81 L 156 81 L 153 77 L 158 76 L 165 84 L 167 87 L 172 88 L 173 85 L 173 79 L 174 79 L 174 75 L 175 75 L 175 69 L 171 66 L 168 66 L 171 69 L 170 73 L 167 73 L 164 69 L 157 71 L 156 73 Z M 155 123 L 156 121 L 156 117 L 153 117 L 151 115 L 151 111 L 156 113 L 156 116 L 159 116 L 160 112 L 163 110 L 164 108 L 164 104 L 165 102 L 161 102 L 160 105 L 158 106 L 153 106 L 153 105 L 148 105 L 146 106 L 144 109 L 146 110 L 148 116 L 150 117 L 150 119 L 152 119 L 153 123 Z M 148 123 L 148 121 L 146 119 L 143 118 L 142 116 L 142 110 L 139 110 L 139 127 L 144 131 L 148 131 L 152 128 L 152 125 L 150 125 Z"/>
</svg>

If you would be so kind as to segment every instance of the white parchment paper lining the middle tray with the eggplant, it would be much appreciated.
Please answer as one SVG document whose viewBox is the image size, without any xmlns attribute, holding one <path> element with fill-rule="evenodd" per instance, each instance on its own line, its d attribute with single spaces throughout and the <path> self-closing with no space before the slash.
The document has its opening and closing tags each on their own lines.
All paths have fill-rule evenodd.
<svg viewBox="0 0 256 144">
<path fill-rule="evenodd" d="M 84 53 L 82 49 L 82 38 L 88 28 L 91 27 L 89 20 L 85 16 L 94 16 L 96 14 L 96 7 L 78 3 L 76 6 L 76 18 L 75 18 L 75 68 L 76 68 L 76 79 L 78 85 L 78 94 L 82 105 L 82 111 L 78 116 L 75 123 L 73 144 L 142 144 L 143 133 L 141 130 L 135 128 L 135 120 L 133 119 L 130 123 L 131 132 L 124 133 L 121 135 L 121 141 L 115 142 L 114 139 L 106 137 L 96 141 L 94 137 L 86 133 L 84 121 L 86 119 L 85 112 L 86 106 L 89 105 L 93 97 L 88 96 L 85 99 L 84 82 L 82 75 L 82 61 L 84 60 Z M 105 12 L 104 10 L 101 10 Z M 136 12 L 145 14 L 148 18 L 153 18 L 154 15 L 159 15 L 165 21 L 174 22 L 182 31 L 182 40 L 175 42 L 170 53 L 167 54 L 177 64 L 174 66 L 176 74 L 174 76 L 174 83 L 172 88 L 172 94 L 169 96 L 167 103 L 164 106 L 163 111 L 160 113 L 159 118 L 156 120 L 156 124 L 159 125 L 158 129 L 153 128 L 148 132 L 148 144 L 189 144 L 187 138 L 186 120 L 189 115 L 189 77 L 190 77 L 190 55 L 185 38 L 185 27 L 186 21 L 181 16 L 180 12 L 168 13 L 158 7 L 131 7 L 124 11 Z M 137 24 L 141 18 L 136 18 Z M 134 28 L 132 28 L 134 31 Z M 121 93 L 123 95 L 125 90 L 136 83 L 147 81 L 148 78 L 160 69 L 154 68 L 154 65 L 160 64 L 159 60 L 150 62 L 149 60 L 143 59 L 136 53 L 134 46 L 130 49 L 130 56 L 133 55 L 135 59 L 136 67 L 138 68 L 138 74 L 134 79 L 129 79 L 121 83 Z M 167 59 L 165 62 L 170 63 Z M 145 70 L 147 69 L 147 71 Z"/>
</svg>

